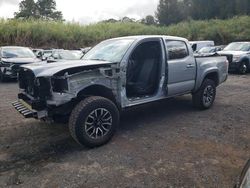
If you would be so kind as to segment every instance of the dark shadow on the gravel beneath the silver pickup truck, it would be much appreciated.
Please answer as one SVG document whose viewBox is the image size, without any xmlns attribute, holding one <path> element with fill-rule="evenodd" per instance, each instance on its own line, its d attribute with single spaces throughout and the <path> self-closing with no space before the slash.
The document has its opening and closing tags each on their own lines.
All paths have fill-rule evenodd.
<svg viewBox="0 0 250 188">
<path fill-rule="evenodd" d="M 124 131 L 141 129 L 138 125 L 143 124 L 143 126 L 147 126 L 145 122 L 155 122 L 161 118 L 166 119 L 166 116 L 178 116 L 180 113 L 190 111 L 195 111 L 195 109 L 192 107 L 189 96 L 162 100 L 126 110 L 122 113 L 121 125 L 117 136 L 119 137 L 119 134 L 122 134 Z M 36 124 L 32 126 L 43 126 L 43 128 L 41 130 L 39 128 L 32 130 L 34 137 L 30 138 L 28 142 L 23 140 L 22 143 L 18 143 L 21 147 L 14 144 L 9 149 L 5 148 L 5 151 L 10 153 L 10 157 L 8 160 L 1 161 L 0 159 L 0 173 L 23 169 L 27 165 L 30 168 L 42 166 L 42 164 L 50 161 L 58 161 L 70 153 L 87 153 L 92 150 L 79 146 L 71 138 L 67 125 L 56 124 L 52 126 L 47 123 L 36 123 L 36 121 L 32 121 L 32 124 Z M 39 134 L 41 135 L 36 137 Z M 18 135 L 18 137 L 22 136 L 28 137 L 25 130 Z M 114 139 L 112 142 L 115 141 Z"/>
</svg>

